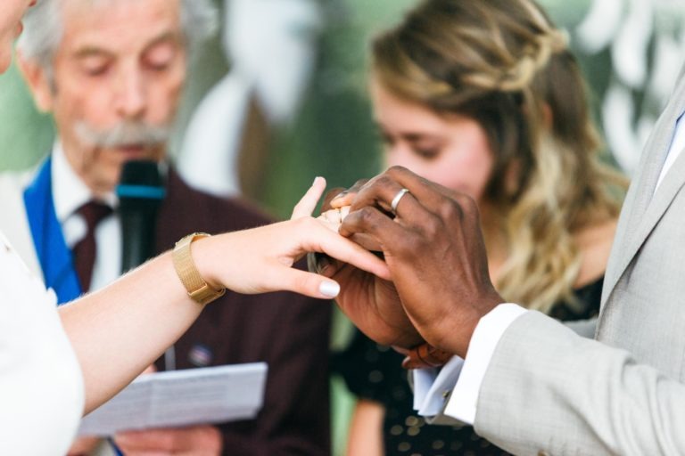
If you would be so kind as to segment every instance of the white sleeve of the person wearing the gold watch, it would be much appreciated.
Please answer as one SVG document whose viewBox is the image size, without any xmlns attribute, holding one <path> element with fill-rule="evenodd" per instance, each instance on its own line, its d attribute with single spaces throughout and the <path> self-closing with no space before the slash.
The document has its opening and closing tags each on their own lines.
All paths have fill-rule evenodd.
<svg viewBox="0 0 685 456">
<path fill-rule="evenodd" d="M 0 404 L 0 454 L 66 453 L 84 405 L 83 377 L 57 298 L 2 233 Z"/>
</svg>

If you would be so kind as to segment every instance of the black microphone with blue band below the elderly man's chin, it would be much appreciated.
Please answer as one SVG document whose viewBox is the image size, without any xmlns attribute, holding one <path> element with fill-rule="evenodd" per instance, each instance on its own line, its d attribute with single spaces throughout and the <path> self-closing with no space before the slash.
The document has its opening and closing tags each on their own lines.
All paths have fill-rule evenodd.
<svg viewBox="0 0 685 456">
<path fill-rule="evenodd" d="M 156 161 L 124 163 L 117 185 L 123 256 L 121 272 L 142 265 L 153 257 L 157 212 L 166 195 Z"/>
</svg>

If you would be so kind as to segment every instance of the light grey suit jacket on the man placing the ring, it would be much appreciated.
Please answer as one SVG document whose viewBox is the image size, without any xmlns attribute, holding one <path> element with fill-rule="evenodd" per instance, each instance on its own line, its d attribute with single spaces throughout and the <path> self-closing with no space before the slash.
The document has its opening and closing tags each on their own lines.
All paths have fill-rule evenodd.
<svg viewBox="0 0 685 456">
<path fill-rule="evenodd" d="M 538 313 L 500 340 L 476 431 L 516 454 L 685 454 L 685 151 L 656 182 L 685 74 L 626 196 L 596 340 Z"/>
</svg>

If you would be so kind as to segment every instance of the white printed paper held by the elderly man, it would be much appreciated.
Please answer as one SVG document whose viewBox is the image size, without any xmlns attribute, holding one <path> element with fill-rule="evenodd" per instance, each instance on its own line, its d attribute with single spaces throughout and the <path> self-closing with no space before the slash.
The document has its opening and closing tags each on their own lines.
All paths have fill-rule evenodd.
<svg viewBox="0 0 685 456">
<path fill-rule="evenodd" d="M 262 406 L 266 380 L 266 362 L 143 375 L 89 413 L 78 434 L 251 419 Z"/>
</svg>

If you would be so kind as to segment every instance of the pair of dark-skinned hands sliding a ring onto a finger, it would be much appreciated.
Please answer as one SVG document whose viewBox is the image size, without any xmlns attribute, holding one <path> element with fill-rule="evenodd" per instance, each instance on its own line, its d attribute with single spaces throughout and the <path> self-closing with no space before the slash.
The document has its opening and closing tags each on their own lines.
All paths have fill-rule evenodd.
<svg viewBox="0 0 685 456">
<path fill-rule="evenodd" d="M 349 210 L 339 224 L 330 213 L 322 218 L 382 252 L 391 273 L 387 281 L 330 258 L 321 265 L 341 284 L 336 302 L 359 330 L 384 345 L 410 348 L 425 340 L 465 356 L 478 321 L 503 302 L 488 274 L 475 201 L 392 167 L 324 208 Z"/>
</svg>

